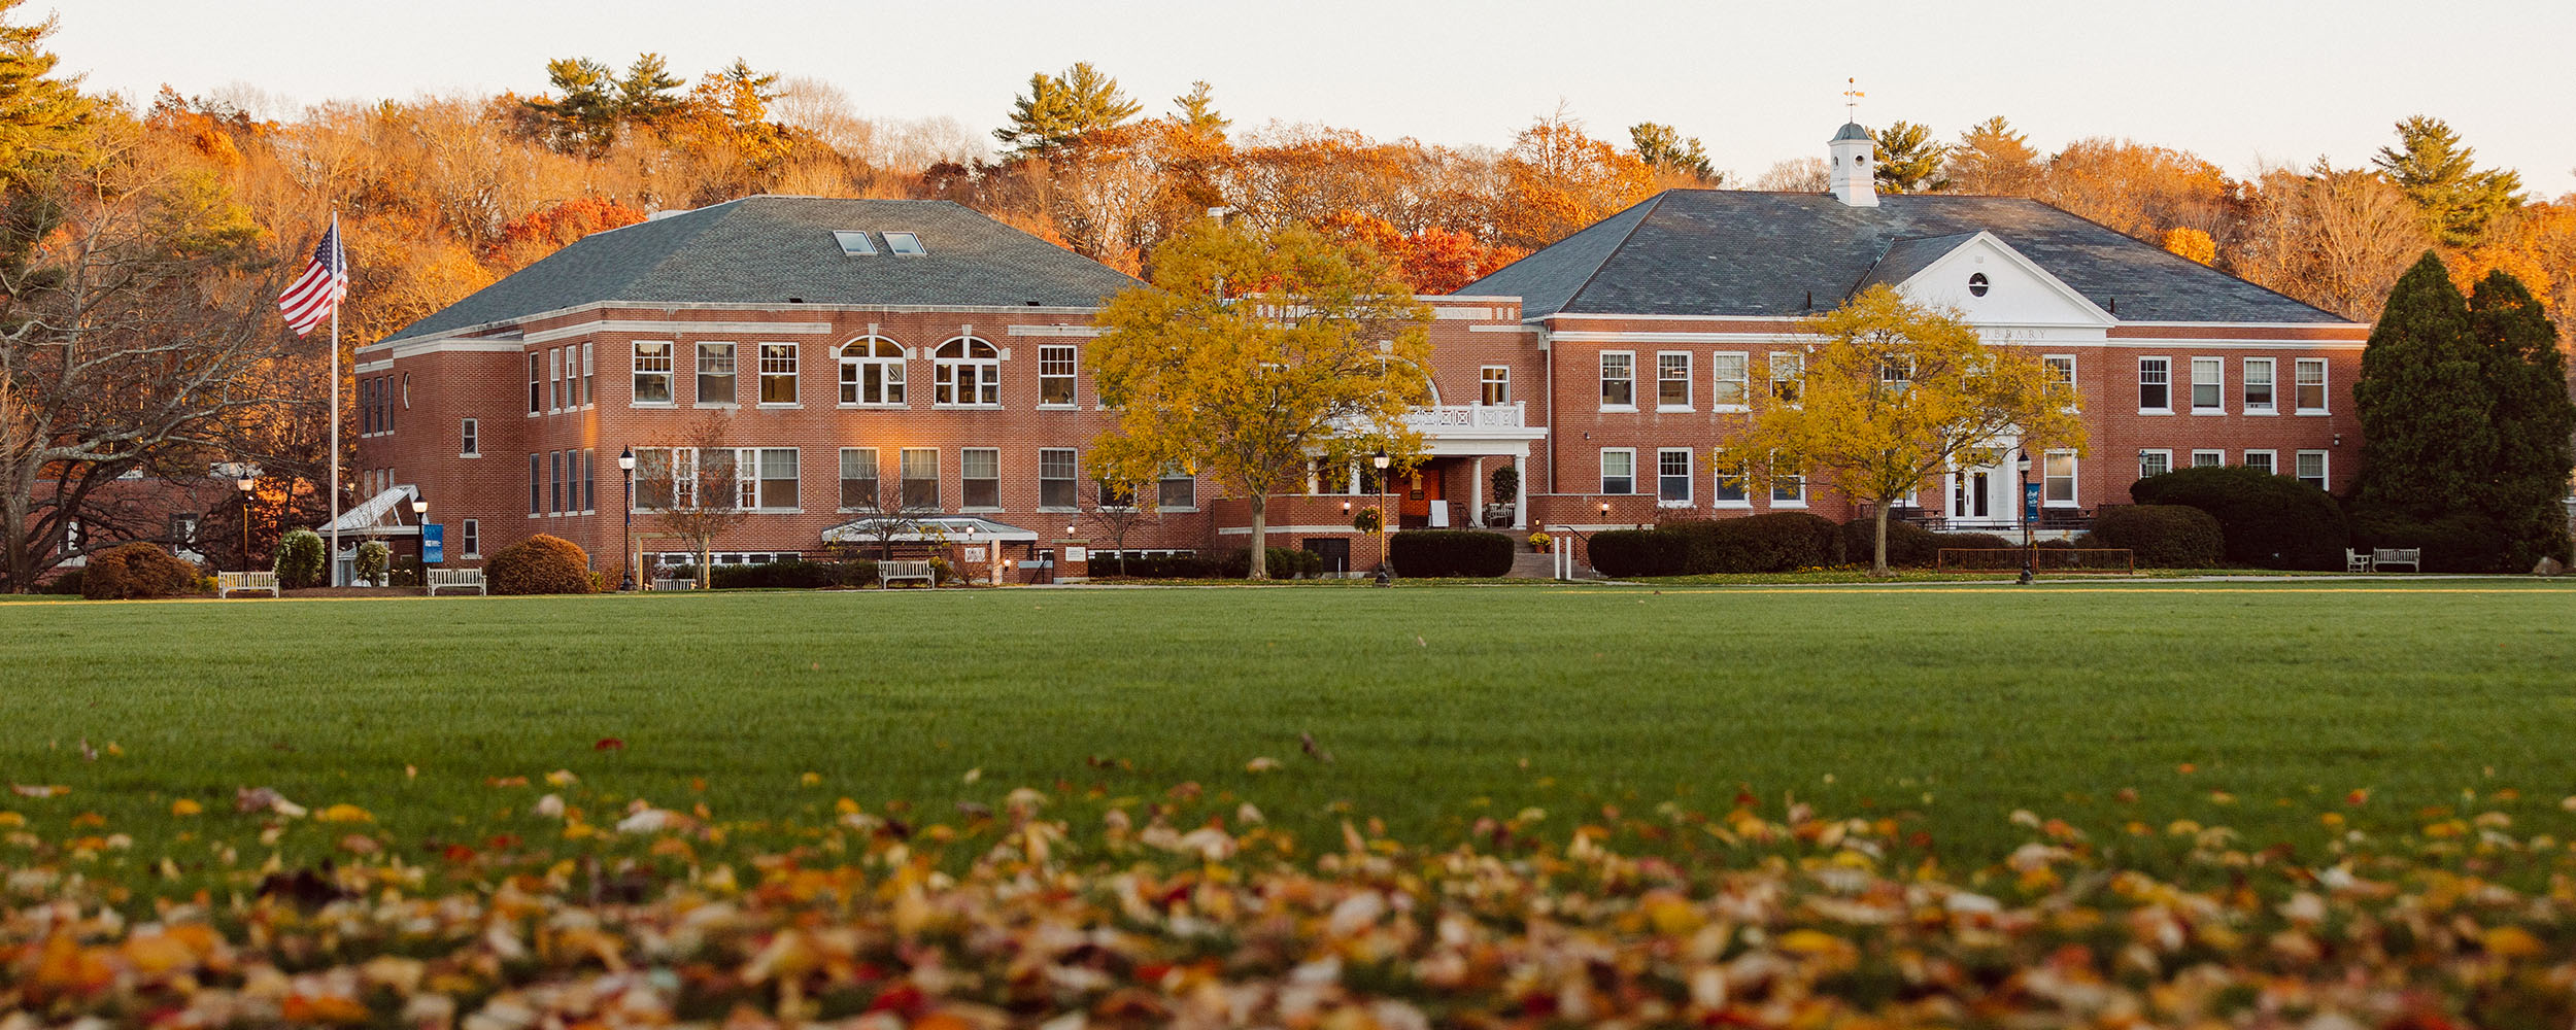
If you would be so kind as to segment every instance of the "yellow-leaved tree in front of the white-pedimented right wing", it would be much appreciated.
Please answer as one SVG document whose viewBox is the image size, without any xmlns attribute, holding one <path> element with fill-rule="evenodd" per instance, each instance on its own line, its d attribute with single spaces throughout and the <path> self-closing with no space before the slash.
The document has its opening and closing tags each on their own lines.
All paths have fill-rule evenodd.
<svg viewBox="0 0 2576 1030">
<path fill-rule="evenodd" d="M 1868 502 L 1878 520 L 1870 574 L 1883 577 L 1888 507 L 2007 443 L 2081 451 L 2074 386 L 2025 348 L 1989 348 L 1955 314 L 1870 286 L 1816 317 L 1795 402 L 1759 409 L 1713 464 L 1762 487 L 1821 474 Z"/>
</svg>

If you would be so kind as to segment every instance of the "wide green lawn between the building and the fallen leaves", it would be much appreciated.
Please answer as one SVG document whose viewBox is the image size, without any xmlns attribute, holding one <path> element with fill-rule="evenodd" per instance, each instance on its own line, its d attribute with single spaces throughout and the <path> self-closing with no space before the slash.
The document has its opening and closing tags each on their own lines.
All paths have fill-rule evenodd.
<svg viewBox="0 0 2576 1030">
<path fill-rule="evenodd" d="M 487 778 L 569 767 L 729 819 L 1195 780 L 1409 839 L 1747 791 L 1919 811 L 1976 857 L 2014 809 L 2316 842 L 2326 809 L 2555 806 L 2571 670 L 2576 590 L 2504 579 L 0 605 L 0 775 L 72 788 L 0 809 L 98 811 L 149 855 L 173 798 L 273 785 L 422 839 L 533 793 Z"/>
</svg>

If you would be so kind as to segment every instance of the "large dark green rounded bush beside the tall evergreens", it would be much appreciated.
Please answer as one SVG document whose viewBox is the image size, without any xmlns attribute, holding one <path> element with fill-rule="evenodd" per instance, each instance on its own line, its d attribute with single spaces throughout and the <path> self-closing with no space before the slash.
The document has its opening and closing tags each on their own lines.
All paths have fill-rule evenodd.
<svg viewBox="0 0 2576 1030">
<path fill-rule="evenodd" d="M 2218 520 L 2228 561 L 2342 569 L 2344 510 L 2324 489 L 2246 466 L 2177 469 L 2128 487 L 2138 505 L 2187 505 Z"/>
</svg>

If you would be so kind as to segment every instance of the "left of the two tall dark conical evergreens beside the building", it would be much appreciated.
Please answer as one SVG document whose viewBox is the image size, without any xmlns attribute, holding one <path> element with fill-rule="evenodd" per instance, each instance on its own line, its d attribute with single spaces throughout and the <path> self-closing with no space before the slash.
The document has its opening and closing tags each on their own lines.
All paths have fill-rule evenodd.
<svg viewBox="0 0 2576 1030">
<path fill-rule="evenodd" d="M 2362 417 L 2362 505 L 2432 520 L 2478 497 L 2496 464 L 2494 397 L 2468 301 L 2432 252 L 2388 291 L 2352 402 Z"/>
</svg>

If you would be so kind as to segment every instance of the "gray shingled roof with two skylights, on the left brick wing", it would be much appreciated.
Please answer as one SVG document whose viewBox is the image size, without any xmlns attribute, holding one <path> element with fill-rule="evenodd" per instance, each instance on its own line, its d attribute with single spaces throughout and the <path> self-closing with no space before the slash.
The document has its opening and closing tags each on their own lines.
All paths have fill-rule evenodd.
<svg viewBox="0 0 2576 1030">
<path fill-rule="evenodd" d="M 866 229 L 878 252 L 848 258 L 832 229 Z M 920 234 L 927 255 L 889 255 L 889 229 Z M 1128 286 L 1115 268 L 951 201 L 747 196 L 582 237 L 389 340 L 592 301 L 1097 306 Z"/>
</svg>

